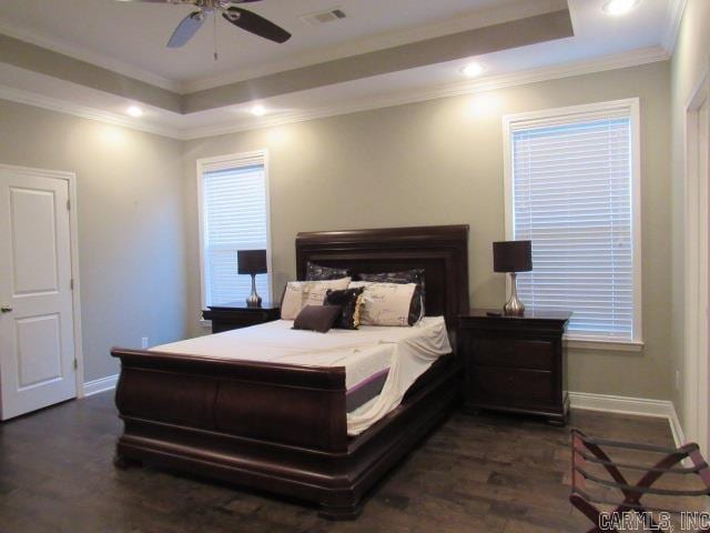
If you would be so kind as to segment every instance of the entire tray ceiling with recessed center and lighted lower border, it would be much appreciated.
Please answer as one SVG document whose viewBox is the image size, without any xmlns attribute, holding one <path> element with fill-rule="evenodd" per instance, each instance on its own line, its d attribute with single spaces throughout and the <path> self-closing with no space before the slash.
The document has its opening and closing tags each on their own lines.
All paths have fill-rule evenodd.
<svg viewBox="0 0 710 533">
<path fill-rule="evenodd" d="M 189 6 L 2 0 L 0 98 L 189 138 L 668 58 L 682 0 L 641 0 L 623 18 L 604 1 L 263 0 L 250 9 L 293 39 L 224 23 L 215 62 L 211 24 L 164 47 Z M 336 7 L 345 20 L 301 20 Z M 521 36 L 526 20 L 541 22 Z M 466 80 L 471 59 L 485 72 Z M 125 115 L 132 104 L 142 118 Z"/>
</svg>

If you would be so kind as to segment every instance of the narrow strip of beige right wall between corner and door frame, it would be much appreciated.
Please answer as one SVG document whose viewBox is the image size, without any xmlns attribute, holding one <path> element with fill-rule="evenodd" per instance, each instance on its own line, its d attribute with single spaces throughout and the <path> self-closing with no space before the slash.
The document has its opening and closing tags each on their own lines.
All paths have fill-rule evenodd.
<svg viewBox="0 0 710 533">
<path fill-rule="evenodd" d="M 702 76 L 710 69 L 710 1 L 688 0 L 683 13 L 676 51 L 671 61 L 671 113 L 672 113 L 672 370 L 681 372 L 681 389 L 687 376 L 683 374 L 684 342 L 684 253 L 686 253 L 686 148 L 684 119 L 686 105 L 692 97 L 693 90 L 700 83 Z M 683 394 L 673 391 L 676 410 L 683 423 L 687 423 L 687 412 Z M 686 419 L 686 420 L 683 420 Z M 689 431 L 690 430 L 690 431 Z M 686 428 L 687 435 L 692 435 L 693 429 Z M 694 438 L 694 435 L 693 435 Z"/>
</svg>

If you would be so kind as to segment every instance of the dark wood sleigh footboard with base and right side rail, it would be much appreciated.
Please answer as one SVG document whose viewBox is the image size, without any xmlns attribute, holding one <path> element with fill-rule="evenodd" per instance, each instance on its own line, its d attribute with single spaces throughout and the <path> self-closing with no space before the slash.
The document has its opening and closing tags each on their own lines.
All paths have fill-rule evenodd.
<svg viewBox="0 0 710 533">
<path fill-rule="evenodd" d="M 146 462 L 320 505 L 352 519 L 363 496 L 458 396 L 452 356 L 403 404 L 348 439 L 343 368 L 295 366 L 114 349 L 124 422 L 116 466 Z"/>
</svg>

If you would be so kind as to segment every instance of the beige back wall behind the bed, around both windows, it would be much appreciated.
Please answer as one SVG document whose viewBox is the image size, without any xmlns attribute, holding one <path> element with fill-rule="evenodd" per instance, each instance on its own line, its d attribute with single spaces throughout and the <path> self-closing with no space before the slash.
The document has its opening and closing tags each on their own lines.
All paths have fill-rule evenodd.
<svg viewBox="0 0 710 533">
<path fill-rule="evenodd" d="M 670 399 L 668 62 L 185 143 L 191 333 L 200 332 L 197 158 L 268 149 L 276 293 L 295 275 L 298 231 L 467 223 L 471 304 L 496 306 L 505 293 L 490 259 L 490 243 L 504 238 L 501 115 L 633 97 L 642 121 L 646 349 L 572 353 L 570 390 Z"/>
</svg>

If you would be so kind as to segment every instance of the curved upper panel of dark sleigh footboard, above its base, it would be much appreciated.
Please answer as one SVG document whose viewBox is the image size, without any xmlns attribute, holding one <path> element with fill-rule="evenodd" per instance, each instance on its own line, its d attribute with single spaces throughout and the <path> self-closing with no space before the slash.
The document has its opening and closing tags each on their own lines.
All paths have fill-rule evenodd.
<svg viewBox="0 0 710 533">
<path fill-rule="evenodd" d="M 111 354 L 121 359 L 115 401 L 126 434 L 151 421 L 272 445 L 347 450 L 344 368 Z"/>
</svg>

